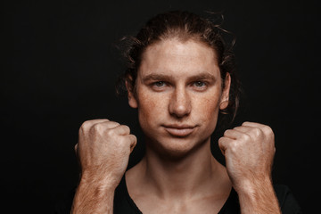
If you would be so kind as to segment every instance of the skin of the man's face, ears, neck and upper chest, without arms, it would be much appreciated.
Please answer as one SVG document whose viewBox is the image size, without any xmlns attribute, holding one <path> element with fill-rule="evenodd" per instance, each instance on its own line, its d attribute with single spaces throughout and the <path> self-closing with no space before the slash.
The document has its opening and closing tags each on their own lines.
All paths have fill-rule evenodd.
<svg viewBox="0 0 321 214">
<path fill-rule="evenodd" d="M 230 85 L 228 76 L 222 90 L 215 58 L 206 45 L 176 39 L 144 53 L 135 95 L 128 100 L 138 108 L 146 156 L 128 171 L 127 181 L 145 213 L 218 212 L 228 197 L 226 169 L 210 153 L 210 135 L 219 108 L 227 105 Z M 180 133 L 182 127 L 187 130 Z"/>
</svg>

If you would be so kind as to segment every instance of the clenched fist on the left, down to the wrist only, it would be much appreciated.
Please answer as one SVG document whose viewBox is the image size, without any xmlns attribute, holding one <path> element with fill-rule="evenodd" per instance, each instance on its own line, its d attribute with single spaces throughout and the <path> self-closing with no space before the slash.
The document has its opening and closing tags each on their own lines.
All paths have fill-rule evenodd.
<svg viewBox="0 0 321 214">
<path fill-rule="evenodd" d="M 81 167 L 81 182 L 116 188 L 127 167 L 136 136 L 127 126 L 108 119 L 85 121 L 75 146 Z"/>
</svg>

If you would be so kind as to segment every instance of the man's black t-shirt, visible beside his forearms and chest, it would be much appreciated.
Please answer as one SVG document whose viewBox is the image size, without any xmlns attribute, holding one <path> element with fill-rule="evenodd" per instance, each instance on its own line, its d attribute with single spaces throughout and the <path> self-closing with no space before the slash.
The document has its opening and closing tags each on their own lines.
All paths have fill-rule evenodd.
<svg viewBox="0 0 321 214">
<path fill-rule="evenodd" d="M 302 213 L 298 202 L 296 202 L 290 189 L 286 185 L 275 185 L 275 191 L 276 191 L 276 196 L 279 201 L 283 214 Z M 66 200 L 64 200 L 60 204 L 57 204 L 57 207 L 54 213 L 57 213 L 57 214 L 70 213 L 70 208 L 73 201 L 74 193 L 75 191 L 72 191 L 70 195 L 67 196 Z M 129 196 L 125 177 L 122 177 L 119 183 L 119 186 L 115 190 L 113 210 L 115 214 L 141 214 L 142 213 L 142 211 L 137 208 L 135 202 Z M 218 212 L 218 214 L 235 214 L 235 213 L 240 213 L 240 204 L 238 201 L 237 193 L 235 192 L 234 189 L 232 189 L 224 206 Z"/>
</svg>

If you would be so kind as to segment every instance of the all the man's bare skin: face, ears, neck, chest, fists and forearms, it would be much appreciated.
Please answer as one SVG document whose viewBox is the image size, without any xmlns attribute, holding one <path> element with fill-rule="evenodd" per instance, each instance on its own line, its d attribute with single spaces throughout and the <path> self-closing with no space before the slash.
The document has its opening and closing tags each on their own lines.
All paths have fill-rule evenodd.
<svg viewBox="0 0 321 214">
<path fill-rule="evenodd" d="M 225 88 L 221 81 L 216 53 L 200 42 L 172 38 L 144 51 L 135 91 L 127 86 L 146 153 L 126 172 L 128 193 L 144 213 L 218 213 L 232 186 L 242 213 L 280 213 L 270 178 L 271 128 L 245 122 L 226 130 L 218 141 L 226 167 L 211 155 L 210 135 L 228 104 L 230 76 Z M 126 126 L 85 122 L 76 147 L 82 177 L 72 213 L 112 213 L 113 193 L 135 144 Z"/>
</svg>

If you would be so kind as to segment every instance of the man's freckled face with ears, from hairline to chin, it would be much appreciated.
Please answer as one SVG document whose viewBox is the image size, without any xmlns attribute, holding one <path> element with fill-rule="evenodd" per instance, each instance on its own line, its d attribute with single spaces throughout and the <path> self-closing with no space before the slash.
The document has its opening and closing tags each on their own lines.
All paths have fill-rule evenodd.
<svg viewBox="0 0 321 214">
<path fill-rule="evenodd" d="M 229 85 L 228 76 L 222 89 L 216 53 L 209 46 L 169 39 L 145 50 L 129 105 L 138 108 L 150 148 L 182 156 L 210 142 Z"/>
</svg>

